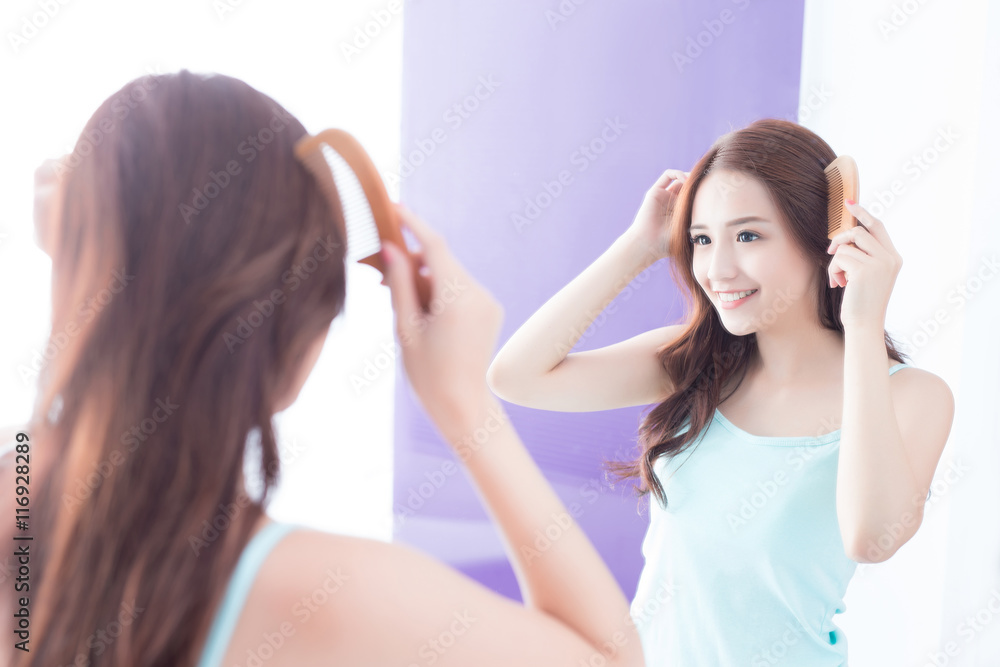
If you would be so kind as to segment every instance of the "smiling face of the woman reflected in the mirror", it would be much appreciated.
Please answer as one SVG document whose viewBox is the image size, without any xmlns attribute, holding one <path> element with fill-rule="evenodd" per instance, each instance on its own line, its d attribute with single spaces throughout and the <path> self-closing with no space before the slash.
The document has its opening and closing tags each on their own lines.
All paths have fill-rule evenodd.
<svg viewBox="0 0 1000 667">
<path fill-rule="evenodd" d="M 695 278 L 733 335 L 815 319 L 816 267 L 760 181 L 734 171 L 709 173 L 695 195 L 689 237 Z M 736 301 L 719 294 L 750 290 L 756 291 Z"/>
</svg>

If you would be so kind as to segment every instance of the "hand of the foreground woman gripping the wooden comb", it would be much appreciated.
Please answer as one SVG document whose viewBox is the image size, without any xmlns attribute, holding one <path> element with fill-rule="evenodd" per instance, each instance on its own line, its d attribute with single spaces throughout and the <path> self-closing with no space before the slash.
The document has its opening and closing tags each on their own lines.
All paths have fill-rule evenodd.
<svg viewBox="0 0 1000 667">
<path fill-rule="evenodd" d="M 405 206 L 393 205 L 421 246 L 412 253 L 389 242 L 382 248 L 403 367 L 428 416 L 451 432 L 465 427 L 492 396 L 486 371 L 503 307 L 452 255 L 444 237 Z M 417 299 L 411 261 L 429 269 L 430 312 Z"/>
</svg>

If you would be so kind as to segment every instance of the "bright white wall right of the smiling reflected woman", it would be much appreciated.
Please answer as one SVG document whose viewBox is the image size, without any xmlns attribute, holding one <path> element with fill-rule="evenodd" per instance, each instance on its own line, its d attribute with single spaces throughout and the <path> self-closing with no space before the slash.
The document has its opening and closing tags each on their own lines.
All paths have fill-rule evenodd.
<svg viewBox="0 0 1000 667">
<path fill-rule="evenodd" d="M 996 1 L 806 1 L 799 121 L 857 160 L 904 260 L 886 327 L 956 399 L 920 530 L 837 617 L 851 667 L 1000 664 L 998 43 Z"/>
</svg>

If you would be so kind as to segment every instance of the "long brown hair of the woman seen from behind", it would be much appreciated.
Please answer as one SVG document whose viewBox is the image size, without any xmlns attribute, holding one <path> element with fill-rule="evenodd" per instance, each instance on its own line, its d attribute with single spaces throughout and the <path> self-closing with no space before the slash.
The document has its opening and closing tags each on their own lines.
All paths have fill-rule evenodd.
<svg viewBox="0 0 1000 667">
<path fill-rule="evenodd" d="M 29 429 L 12 664 L 195 664 L 278 479 L 272 414 L 344 304 L 344 221 L 294 158 L 305 134 L 246 83 L 182 70 L 126 84 L 60 163 L 63 344 Z"/>
</svg>

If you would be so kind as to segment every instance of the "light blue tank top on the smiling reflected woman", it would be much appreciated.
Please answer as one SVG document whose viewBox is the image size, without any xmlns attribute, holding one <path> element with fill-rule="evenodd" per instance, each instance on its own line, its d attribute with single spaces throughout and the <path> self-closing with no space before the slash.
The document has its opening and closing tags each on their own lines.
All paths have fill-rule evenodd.
<svg viewBox="0 0 1000 667">
<path fill-rule="evenodd" d="M 691 449 L 657 459 L 668 506 L 650 497 L 630 610 L 649 667 L 847 665 L 839 444 L 840 429 L 756 436 L 716 410 Z"/>
</svg>

